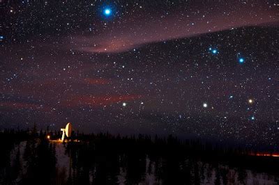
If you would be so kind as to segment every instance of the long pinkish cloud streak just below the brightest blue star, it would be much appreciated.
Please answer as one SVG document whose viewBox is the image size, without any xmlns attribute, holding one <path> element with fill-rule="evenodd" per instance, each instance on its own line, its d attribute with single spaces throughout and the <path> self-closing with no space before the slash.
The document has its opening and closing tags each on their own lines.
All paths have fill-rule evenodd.
<svg viewBox="0 0 279 185">
<path fill-rule="evenodd" d="M 249 11 L 246 8 L 249 7 Z M 197 15 L 167 15 L 161 17 L 126 17 L 128 21 L 119 26 L 113 24 L 98 35 L 75 35 L 70 42 L 73 49 L 89 53 L 119 53 L 129 51 L 151 42 L 187 38 L 203 33 L 235 29 L 241 26 L 259 26 L 279 21 L 278 12 L 268 7 L 252 7 L 251 4 L 223 7 L 208 13 L 212 7 L 204 7 Z M 227 14 L 229 13 L 229 15 Z M 180 17 L 180 18 L 178 18 Z M 183 18 L 181 18 L 183 17 Z"/>
</svg>

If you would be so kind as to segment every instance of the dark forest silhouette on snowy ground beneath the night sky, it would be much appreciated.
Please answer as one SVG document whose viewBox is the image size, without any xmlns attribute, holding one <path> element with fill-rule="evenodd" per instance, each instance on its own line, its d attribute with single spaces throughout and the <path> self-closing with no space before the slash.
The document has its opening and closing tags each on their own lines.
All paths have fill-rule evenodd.
<svg viewBox="0 0 279 185">
<path fill-rule="evenodd" d="M 0 133 L 0 184 L 153 184 L 247 183 L 247 170 L 266 172 L 279 182 L 279 159 L 254 156 L 256 150 L 224 147 L 174 136 L 78 134 L 55 143 L 59 131 L 5 130 Z M 73 140 L 80 140 L 74 142 Z M 56 147 L 63 145 L 70 162 L 57 166 Z M 21 147 L 20 147 L 21 146 Z M 235 172 L 232 170 L 235 169 Z M 146 183 L 148 184 L 148 183 Z"/>
</svg>

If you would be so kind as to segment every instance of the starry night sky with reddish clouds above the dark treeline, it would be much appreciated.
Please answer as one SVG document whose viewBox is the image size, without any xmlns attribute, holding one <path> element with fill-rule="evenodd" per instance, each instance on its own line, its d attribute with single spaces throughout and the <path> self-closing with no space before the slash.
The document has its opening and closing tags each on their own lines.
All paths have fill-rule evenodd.
<svg viewBox="0 0 279 185">
<path fill-rule="evenodd" d="M 278 145 L 279 1 L 0 4 L 0 129 Z"/>
</svg>

